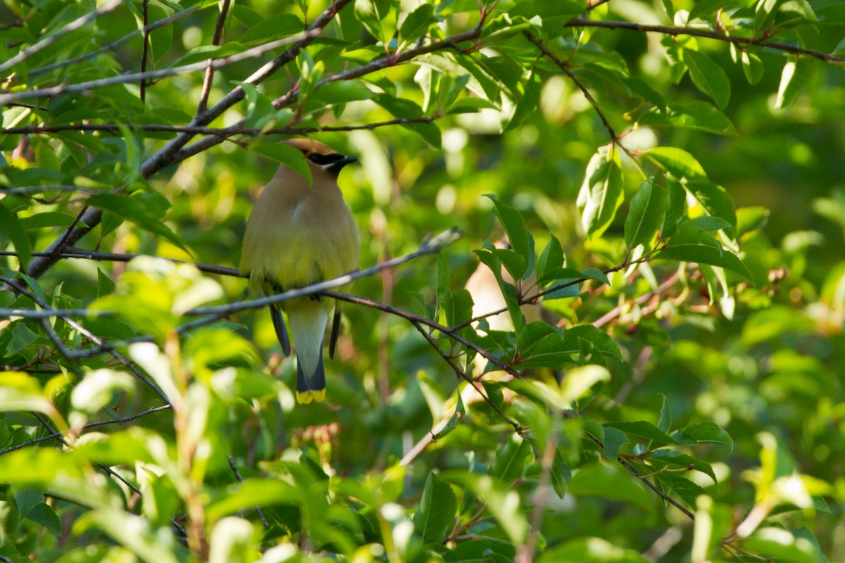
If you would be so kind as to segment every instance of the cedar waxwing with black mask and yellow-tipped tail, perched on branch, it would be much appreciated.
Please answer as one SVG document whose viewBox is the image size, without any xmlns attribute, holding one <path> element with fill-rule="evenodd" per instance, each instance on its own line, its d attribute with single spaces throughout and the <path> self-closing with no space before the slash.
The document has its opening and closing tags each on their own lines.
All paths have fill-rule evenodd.
<svg viewBox="0 0 845 563">
<path fill-rule="evenodd" d="M 337 185 L 341 169 L 357 159 L 311 139 L 295 138 L 285 143 L 303 152 L 312 185 L 308 186 L 299 172 L 281 165 L 249 214 L 240 270 L 249 275 L 250 290 L 263 295 L 336 278 L 356 270 L 361 260 L 358 228 Z M 344 291 L 350 285 L 337 289 Z M 290 355 L 291 341 L 281 311 L 287 313 L 297 348 L 297 402 L 322 401 L 324 333 L 334 311 L 329 340 L 331 357 L 341 327 L 341 307 L 335 311 L 335 300 L 319 295 L 271 306 L 281 349 Z"/>
</svg>

